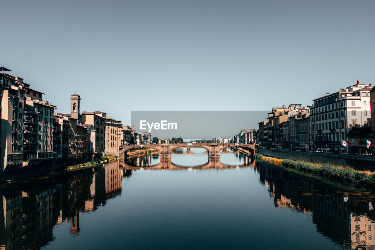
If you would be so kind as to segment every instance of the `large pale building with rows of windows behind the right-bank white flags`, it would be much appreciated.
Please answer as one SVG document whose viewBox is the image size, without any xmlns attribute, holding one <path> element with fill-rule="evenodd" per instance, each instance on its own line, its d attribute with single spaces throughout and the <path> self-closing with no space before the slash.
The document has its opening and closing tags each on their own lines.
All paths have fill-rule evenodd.
<svg viewBox="0 0 375 250">
<path fill-rule="evenodd" d="M 371 117 L 370 90 L 357 81 L 354 86 L 313 100 L 310 117 L 313 151 L 349 152 L 353 145 L 348 142 L 348 132 L 353 126 L 367 125 Z M 348 142 L 347 148 L 342 147 L 343 140 Z"/>
</svg>

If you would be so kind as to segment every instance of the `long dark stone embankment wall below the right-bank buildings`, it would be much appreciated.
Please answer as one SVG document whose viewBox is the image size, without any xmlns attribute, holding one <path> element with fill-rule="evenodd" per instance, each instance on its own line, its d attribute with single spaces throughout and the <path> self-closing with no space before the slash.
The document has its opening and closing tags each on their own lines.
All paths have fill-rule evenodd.
<svg viewBox="0 0 375 250">
<path fill-rule="evenodd" d="M 356 155 L 325 152 L 310 152 L 288 149 L 263 148 L 259 146 L 259 154 L 269 157 L 309 161 L 313 163 L 328 163 L 343 167 L 353 167 L 357 170 L 375 171 L 375 155 Z"/>
</svg>

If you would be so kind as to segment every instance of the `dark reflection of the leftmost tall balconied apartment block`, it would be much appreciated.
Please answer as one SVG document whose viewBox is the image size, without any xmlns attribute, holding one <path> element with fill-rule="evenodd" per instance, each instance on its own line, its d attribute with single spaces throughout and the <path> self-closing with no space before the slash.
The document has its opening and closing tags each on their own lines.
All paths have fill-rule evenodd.
<svg viewBox="0 0 375 250">
<path fill-rule="evenodd" d="M 52 239 L 55 223 L 52 202 L 56 190 L 47 188 L 37 194 L 13 191 L 16 192 L 1 197 L 5 206 L 0 245 L 5 245 L 3 249 L 40 248 Z"/>
</svg>

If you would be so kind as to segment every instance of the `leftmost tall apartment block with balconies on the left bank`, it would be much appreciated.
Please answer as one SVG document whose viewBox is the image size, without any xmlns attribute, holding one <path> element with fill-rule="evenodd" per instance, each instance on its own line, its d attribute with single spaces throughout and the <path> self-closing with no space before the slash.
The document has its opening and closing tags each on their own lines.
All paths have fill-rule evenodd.
<svg viewBox="0 0 375 250">
<path fill-rule="evenodd" d="M 0 83 L 1 173 L 7 167 L 14 173 L 31 164 L 52 164 L 56 107 L 43 101 L 44 94 L 31 89 L 21 77 L 0 72 Z"/>
</svg>

